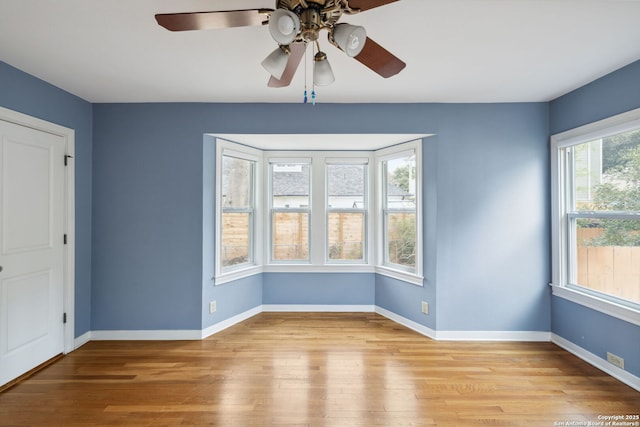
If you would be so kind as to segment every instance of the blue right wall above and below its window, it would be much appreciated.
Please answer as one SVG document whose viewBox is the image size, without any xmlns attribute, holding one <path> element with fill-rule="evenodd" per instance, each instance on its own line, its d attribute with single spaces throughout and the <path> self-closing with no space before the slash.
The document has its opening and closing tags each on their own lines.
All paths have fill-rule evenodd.
<svg viewBox="0 0 640 427">
<path fill-rule="evenodd" d="M 640 61 L 634 62 L 550 103 L 551 133 L 640 108 Z M 640 326 L 632 325 L 558 297 L 552 297 L 551 331 L 606 359 L 625 359 L 625 369 L 640 376 Z"/>
</svg>

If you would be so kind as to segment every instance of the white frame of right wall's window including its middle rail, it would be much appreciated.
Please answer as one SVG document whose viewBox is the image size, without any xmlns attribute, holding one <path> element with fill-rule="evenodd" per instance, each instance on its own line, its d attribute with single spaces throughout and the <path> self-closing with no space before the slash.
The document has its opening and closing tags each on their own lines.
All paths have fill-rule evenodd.
<svg viewBox="0 0 640 427">
<path fill-rule="evenodd" d="M 608 136 L 640 129 L 640 109 L 635 109 L 551 136 L 551 268 L 555 296 L 640 325 L 640 309 L 632 302 L 591 291 L 571 283 L 575 277 L 574 226 L 580 218 L 634 219 L 629 212 L 576 212 L 571 205 L 572 183 L 568 177 L 571 147 Z M 571 206 L 569 206 L 571 205 Z"/>
</svg>

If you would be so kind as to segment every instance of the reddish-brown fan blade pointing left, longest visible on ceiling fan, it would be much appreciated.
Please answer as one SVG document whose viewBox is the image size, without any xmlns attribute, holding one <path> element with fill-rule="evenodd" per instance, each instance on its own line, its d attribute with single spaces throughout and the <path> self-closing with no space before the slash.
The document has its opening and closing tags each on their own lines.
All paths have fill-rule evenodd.
<svg viewBox="0 0 640 427">
<path fill-rule="evenodd" d="M 218 12 L 159 13 L 158 24 L 170 31 L 213 30 L 262 25 L 271 9 L 227 10 Z"/>
</svg>

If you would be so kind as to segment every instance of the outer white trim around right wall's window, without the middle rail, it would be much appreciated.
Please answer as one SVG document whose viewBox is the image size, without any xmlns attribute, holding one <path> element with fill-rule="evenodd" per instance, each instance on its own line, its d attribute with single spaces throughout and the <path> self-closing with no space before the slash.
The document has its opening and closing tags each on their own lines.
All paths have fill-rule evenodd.
<svg viewBox="0 0 640 427">
<path fill-rule="evenodd" d="M 566 183 L 563 171 L 566 159 L 564 151 L 579 143 L 593 141 L 606 136 L 640 128 L 640 108 L 580 126 L 551 136 L 551 287 L 552 293 L 560 298 L 589 307 L 607 315 L 640 325 L 640 310 L 619 304 L 606 297 L 593 295 L 588 290 L 568 283 L 568 215 L 565 212 Z"/>
</svg>

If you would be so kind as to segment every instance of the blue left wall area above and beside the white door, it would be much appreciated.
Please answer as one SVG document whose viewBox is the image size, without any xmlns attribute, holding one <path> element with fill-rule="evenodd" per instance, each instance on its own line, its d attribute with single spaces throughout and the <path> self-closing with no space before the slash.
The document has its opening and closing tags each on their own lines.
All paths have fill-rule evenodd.
<svg viewBox="0 0 640 427">
<path fill-rule="evenodd" d="M 0 106 L 75 130 L 75 335 L 91 329 L 92 105 L 0 61 Z"/>
</svg>

